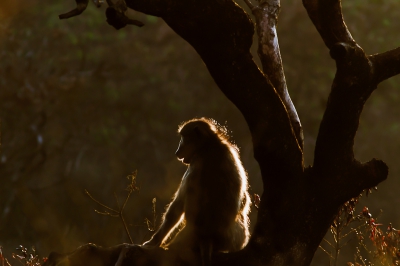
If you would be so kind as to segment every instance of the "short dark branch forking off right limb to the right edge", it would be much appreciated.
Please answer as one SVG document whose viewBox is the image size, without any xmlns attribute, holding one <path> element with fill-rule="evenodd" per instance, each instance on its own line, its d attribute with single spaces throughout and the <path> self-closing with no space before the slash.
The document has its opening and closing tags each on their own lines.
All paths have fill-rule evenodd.
<svg viewBox="0 0 400 266">
<path fill-rule="evenodd" d="M 368 58 L 374 66 L 377 83 L 400 74 L 400 47 Z"/>
</svg>

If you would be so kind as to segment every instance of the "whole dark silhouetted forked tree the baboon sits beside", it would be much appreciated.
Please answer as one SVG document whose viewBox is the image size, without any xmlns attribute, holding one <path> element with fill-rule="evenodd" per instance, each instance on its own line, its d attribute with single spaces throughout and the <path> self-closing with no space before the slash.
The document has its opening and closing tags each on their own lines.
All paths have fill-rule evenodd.
<svg viewBox="0 0 400 266">
<path fill-rule="evenodd" d="M 82 13 L 87 2 L 77 1 L 78 9 L 62 18 Z M 387 178 L 386 164 L 357 161 L 353 144 L 366 100 L 380 82 L 400 72 L 400 48 L 367 55 L 346 27 L 340 0 L 303 0 L 337 69 L 313 166 L 305 167 L 302 127 L 287 91 L 276 34 L 279 0 L 246 1 L 256 21 L 263 70 L 250 54 L 252 19 L 232 0 L 107 2 L 108 23 L 116 28 L 141 26 L 124 15 L 126 6 L 163 18 L 195 48 L 249 126 L 264 184 L 258 218 L 246 248 L 216 254 L 213 264 L 309 265 L 339 208 Z M 86 245 L 69 255 L 52 253 L 48 264 L 64 259 L 72 265 L 179 264 L 168 251 L 135 245 Z"/>
</svg>

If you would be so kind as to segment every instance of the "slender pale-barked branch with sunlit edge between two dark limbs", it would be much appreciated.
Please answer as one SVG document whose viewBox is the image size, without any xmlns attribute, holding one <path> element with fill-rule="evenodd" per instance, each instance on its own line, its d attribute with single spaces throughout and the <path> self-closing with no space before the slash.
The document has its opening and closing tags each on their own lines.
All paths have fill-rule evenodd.
<svg viewBox="0 0 400 266">
<path fill-rule="evenodd" d="M 246 4 L 251 9 L 256 19 L 258 56 L 261 60 L 263 71 L 268 76 L 285 104 L 297 141 L 303 149 L 303 129 L 287 89 L 278 35 L 276 32 L 280 12 L 280 0 L 260 1 L 258 6 L 254 6 L 250 1 L 246 1 Z"/>
</svg>

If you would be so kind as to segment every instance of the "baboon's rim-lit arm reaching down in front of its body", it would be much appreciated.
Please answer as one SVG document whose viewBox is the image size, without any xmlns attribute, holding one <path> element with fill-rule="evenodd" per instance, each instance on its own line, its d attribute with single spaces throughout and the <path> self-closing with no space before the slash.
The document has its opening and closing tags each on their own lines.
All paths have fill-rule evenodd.
<svg viewBox="0 0 400 266">
<path fill-rule="evenodd" d="M 183 214 L 184 199 L 178 191 L 176 198 L 169 205 L 164 215 L 164 220 L 160 228 L 153 237 L 143 245 L 160 246 L 164 238 L 171 232 L 176 224 L 180 221 Z"/>
</svg>

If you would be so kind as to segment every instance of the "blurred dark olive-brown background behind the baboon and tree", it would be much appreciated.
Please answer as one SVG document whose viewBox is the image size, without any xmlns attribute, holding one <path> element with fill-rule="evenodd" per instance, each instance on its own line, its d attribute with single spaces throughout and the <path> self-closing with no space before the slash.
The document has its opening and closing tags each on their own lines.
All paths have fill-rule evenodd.
<svg viewBox="0 0 400 266">
<path fill-rule="evenodd" d="M 239 2 L 242 5 L 242 2 Z M 335 65 L 301 1 L 282 0 L 279 41 L 290 94 L 304 127 L 306 164 Z M 242 5 L 244 6 L 244 5 Z M 232 131 L 249 174 L 250 192 L 262 193 L 251 139 L 240 112 L 218 90 L 194 49 L 162 19 L 130 11 L 143 28 L 119 31 L 105 8 L 92 3 L 80 16 L 59 20 L 75 2 L 0 2 L 0 246 L 42 255 L 93 242 L 129 242 L 121 221 L 88 196 L 117 208 L 126 177 L 137 170 L 139 192 L 124 215 L 135 243 L 151 236 L 185 166 L 174 152 L 177 126 L 212 117 Z M 400 46 L 400 1 L 343 2 L 346 23 L 368 54 Z M 256 47 L 253 47 L 256 57 Z M 368 100 L 355 143 L 356 157 L 384 160 L 389 179 L 363 197 L 379 222 L 400 227 L 400 77 L 382 83 Z M 256 217 L 252 211 L 252 220 Z M 342 251 L 343 262 L 354 250 Z M 314 265 L 329 265 L 318 251 Z"/>
</svg>

